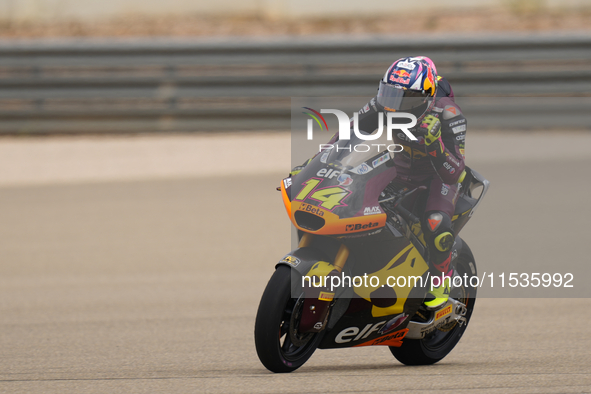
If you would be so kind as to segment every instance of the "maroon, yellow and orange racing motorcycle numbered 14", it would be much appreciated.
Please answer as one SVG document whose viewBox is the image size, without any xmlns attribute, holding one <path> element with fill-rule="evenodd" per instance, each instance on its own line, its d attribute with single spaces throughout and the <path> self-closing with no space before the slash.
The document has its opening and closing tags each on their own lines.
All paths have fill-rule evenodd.
<svg viewBox="0 0 591 394">
<path fill-rule="evenodd" d="M 396 187 L 396 153 L 385 144 L 381 151 L 350 149 L 363 142 L 336 142 L 278 188 L 299 245 L 277 263 L 256 316 L 256 351 L 272 372 L 296 370 L 317 348 L 388 346 L 403 364 L 433 364 L 470 322 L 477 290 L 467 280 L 477 275 L 470 248 L 456 236 L 450 297 L 427 307 L 437 282 L 418 218 L 426 188 Z M 456 234 L 489 187 L 478 172 L 466 172 Z"/>
</svg>

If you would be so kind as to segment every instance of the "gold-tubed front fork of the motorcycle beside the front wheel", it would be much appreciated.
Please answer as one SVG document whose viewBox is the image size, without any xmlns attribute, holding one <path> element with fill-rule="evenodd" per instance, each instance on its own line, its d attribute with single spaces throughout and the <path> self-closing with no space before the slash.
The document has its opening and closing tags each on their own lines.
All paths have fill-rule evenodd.
<svg viewBox="0 0 591 394">
<path fill-rule="evenodd" d="M 300 239 L 300 248 L 310 246 L 313 235 L 305 233 Z M 326 327 L 328 312 L 334 300 L 334 292 L 328 286 L 331 276 L 338 276 L 349 258 L 349 248 L 341 244 L 334 263 L 319 261 L 305 275 L 308 285 L 304 288 L 304 305 L 298 331 L 302 333 L 320 332 Z"/>
</svg>

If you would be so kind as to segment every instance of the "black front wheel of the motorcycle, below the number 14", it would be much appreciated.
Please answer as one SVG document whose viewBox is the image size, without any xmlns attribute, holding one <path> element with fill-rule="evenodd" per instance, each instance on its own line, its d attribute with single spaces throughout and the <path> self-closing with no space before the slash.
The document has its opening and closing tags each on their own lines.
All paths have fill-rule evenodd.
<svg viewBox="0 0 591 394">
<path fill-rule="evenodd" d="M 297 331 L 303 298 L 291 297 L 291 269 L 280 265 L 261 297 L 254 326 L 254 341 L 261 363 L 271 372 L 292 372 L 318 347 L 323 332 Z"/>
</svg>

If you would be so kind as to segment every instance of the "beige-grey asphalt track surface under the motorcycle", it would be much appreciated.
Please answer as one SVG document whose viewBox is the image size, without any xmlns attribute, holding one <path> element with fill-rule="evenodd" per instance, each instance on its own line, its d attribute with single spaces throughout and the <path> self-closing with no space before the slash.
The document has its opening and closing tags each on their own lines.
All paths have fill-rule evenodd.
<svg viewBox="0 0 591 394">
<path fill-rule="evenodd" d="M 482 160 L 477 262 L 589 260 L 590 166 Z M 0 393 L 591 392 L 589 299 L 479 299 L 433 366 L 373 347 L 268 372 L 253 325 L 290 250 L 283 172 L 1 188 Z"/>
</svg>

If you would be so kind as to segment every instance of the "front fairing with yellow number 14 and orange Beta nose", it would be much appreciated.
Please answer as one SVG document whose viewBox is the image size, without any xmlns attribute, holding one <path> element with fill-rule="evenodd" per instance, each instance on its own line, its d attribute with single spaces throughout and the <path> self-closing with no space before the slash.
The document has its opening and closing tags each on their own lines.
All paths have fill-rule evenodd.
<svg viewBox="0 0 591 394">
<path fill-rule="evenodd" d="M 284 202 L 296 228 L 347 237 L 384 227 L 387 217 L 378 198 L 396 177 L 395 153 L 388 148 L 395 150 L 395 145 L 352 135 L 316 155 L 289 181 L 284 180 Z"/>
</svg>

